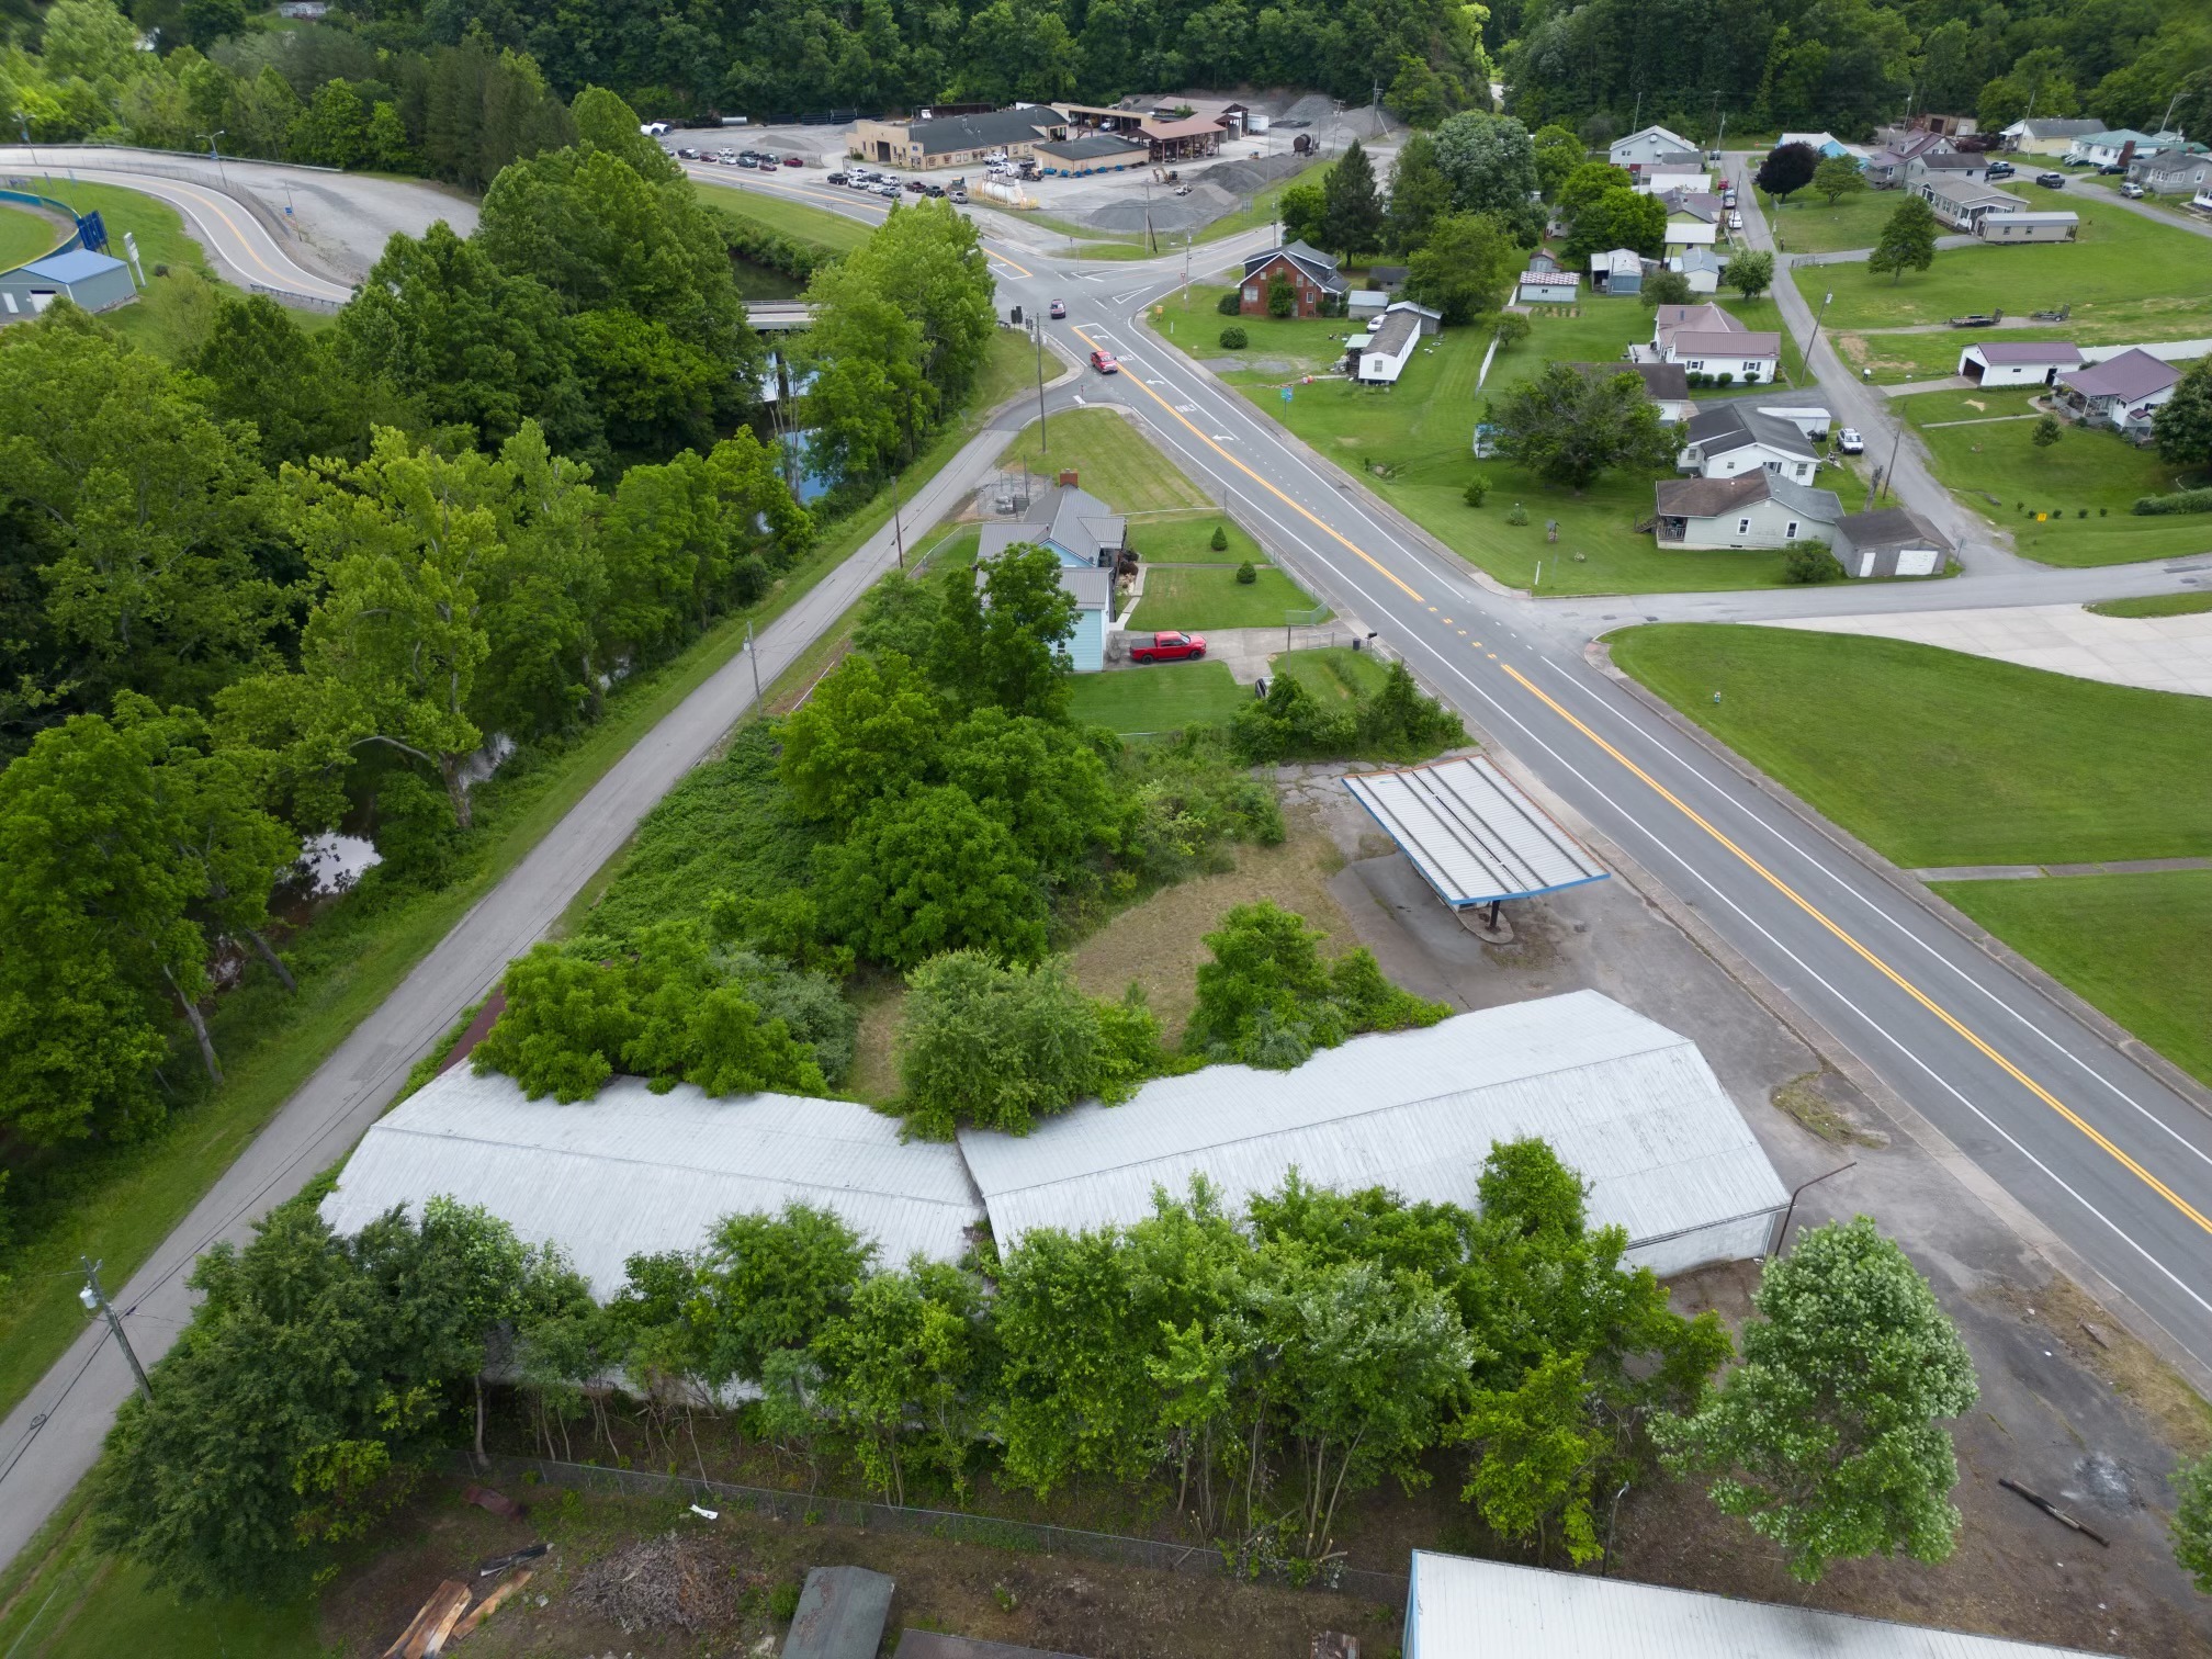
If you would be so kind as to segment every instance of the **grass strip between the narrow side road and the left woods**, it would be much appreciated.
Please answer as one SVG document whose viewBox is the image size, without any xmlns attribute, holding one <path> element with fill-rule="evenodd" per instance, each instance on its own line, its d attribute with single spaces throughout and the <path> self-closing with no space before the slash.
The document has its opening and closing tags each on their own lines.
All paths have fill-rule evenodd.
<svg viewBox="0 0 2212 1659">
<path fill-rule="evenodd" d="M 905 500 L 938 473 L 975 434 L 982 414 L 947 427 L 905 471 Z M 345 933 L 343 960 L 301 980 L 299 1000 L 217 1009 L 226 1084 L 206 1104 L 181 1113 L 135 1146 L 115 1148 L 97 1166 L 82 1166 L 66 1197 L 66 1212 L 38 1219 L 18 1210 L 20 1248 L 7 1267 L 13 1283 L 0 1298 L 0 1411 L 13 1407 L 62 1349 L 84 1329 L 77 1305 L 80 1254 L 106 1263 L 106 1283 L 119 1287 L 170 1228 L 239 1157 L 270 1115 L 314 1073 L 338 1042 L 376 1009 L 429 949 L 511 872 L 560 818 L 677 703 L 697 690 L 745 644 L 748 617 L 759 626 L 803 597 L 854 549 L 891 518 L 885 491 L 830 526 L 823 544 L 787 571 L 750 613 L 723 617 L 712 633 L 679 657 L 624 681 L 608 699 L 606 719 L 526 779 L 487 785 L 480 823 L 487 841 L 471 874 L 456 885 L 396 898 Z M 504 774 L 502 774 L 504 779 Z M 507 787 L 500 796 L 498 790 Z M 495 805 L 493 805 L 495 801 Z M 312 940 L 314 933 L 305 936 Z M 325 956 L 330 951 L 325 949 Z M 9 1199 L 22 1201 L 22 1186 Z M 164 1650 L 161 1644 L 144 1648 Z"/>
</svg>

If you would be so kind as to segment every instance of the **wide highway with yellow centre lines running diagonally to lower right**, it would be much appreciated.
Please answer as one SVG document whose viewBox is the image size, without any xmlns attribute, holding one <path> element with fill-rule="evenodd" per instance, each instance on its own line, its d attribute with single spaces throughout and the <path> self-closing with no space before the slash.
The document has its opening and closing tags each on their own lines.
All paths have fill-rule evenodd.
<svg viewBox="0 0 2212 1659">
<path fill-rule="evenodd" d="M 1152 292 L 1168 292 L 1157 274 Z M 1099 314 L 1084 299 L 1071 296 L 1068 343 L 1110 349 L 1124 367 L 1091 378 L 1093 403 L 1128 405 L 1194 476 L 1232 493 L 1301 580 L 1383 630 L 1433 690 L 2212 1367 L 2212 1119 L 2197 1102 L 1593 668 L 1586 628 L 1551 624 L 1544 606 L 1489 591 L 1405 533 L 1152 334 L 1141 303 Z M 1635 602 L 1617 608 L 1637 615 Z"/>
</svg>

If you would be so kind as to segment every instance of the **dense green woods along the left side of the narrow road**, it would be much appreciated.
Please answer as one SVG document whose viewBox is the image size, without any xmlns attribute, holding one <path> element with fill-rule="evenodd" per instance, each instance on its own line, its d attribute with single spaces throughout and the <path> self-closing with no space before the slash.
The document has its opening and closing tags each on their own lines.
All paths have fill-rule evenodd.
<svg viewBox="0 0 2212 1659">
<path fill-rule="evenodd" d="M 303 836 L 372 834 L 372 891 L 442 885 L 493 741 L 571 741 L 958 414 L 989 274 L 962 219 L 898 210 L 830 312 L 880 323 L 902 403 L 816 447 L 838 489 L 801 507 L 714 226 L 619 100 L 577 124 L 476 237 L 394 237 L 323 334 L 204 285 L 179 363 L 66 303 L 0 334 L 11 1166 L 221 1079 L 217 987 L 290 989 Z"/>
</svg>

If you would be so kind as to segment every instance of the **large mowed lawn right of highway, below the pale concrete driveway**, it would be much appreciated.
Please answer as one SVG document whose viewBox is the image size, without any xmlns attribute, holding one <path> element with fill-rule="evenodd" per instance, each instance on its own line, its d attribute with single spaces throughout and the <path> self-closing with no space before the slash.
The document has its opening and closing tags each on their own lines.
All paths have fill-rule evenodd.
<svg viewBox="0 0 2212 1659">
<path fill-rule="evenodd" d="M 2212 699 L 1796 628 L 1628 628 L 1613 659 L 1907 869 L 2212 854 Z"/>
</svg>

